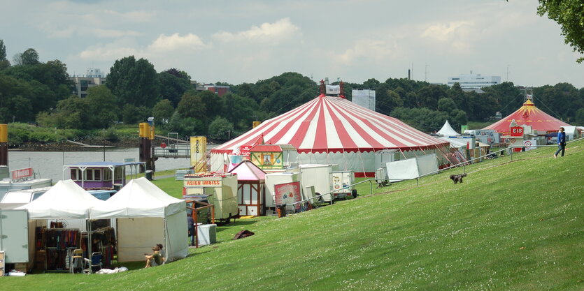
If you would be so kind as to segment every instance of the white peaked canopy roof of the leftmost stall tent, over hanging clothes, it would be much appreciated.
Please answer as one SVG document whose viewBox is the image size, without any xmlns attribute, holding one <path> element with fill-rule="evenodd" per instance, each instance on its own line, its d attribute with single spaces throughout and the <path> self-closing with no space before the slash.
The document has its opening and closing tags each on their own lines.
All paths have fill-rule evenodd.
<svg viewBox="0 0 584 291">
<path fill-rule="evenodd" d="M 89 218 L 90 209 L 103 203 L 73 180 L 62 180 L 38 199 L 17 209 L 27 209 L 29 219 Z"/>
</svg>

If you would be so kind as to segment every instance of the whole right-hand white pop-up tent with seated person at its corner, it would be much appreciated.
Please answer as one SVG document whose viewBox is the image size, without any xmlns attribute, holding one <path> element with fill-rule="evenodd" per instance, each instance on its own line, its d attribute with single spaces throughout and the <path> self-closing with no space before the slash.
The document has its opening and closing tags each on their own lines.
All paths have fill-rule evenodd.
<svg viewBox="0 0 584 291">
<path fill-rule="evenodd" d="M 120 262 L 144 260 L 144 253 L 152 253 L 156 244 L 163 244 L 167 262 L 188 255 L 185 201 L 144 177 L 129 181 L 104 204 L 92 208 L 90 217 L 117 218 Z"/>
</svg>

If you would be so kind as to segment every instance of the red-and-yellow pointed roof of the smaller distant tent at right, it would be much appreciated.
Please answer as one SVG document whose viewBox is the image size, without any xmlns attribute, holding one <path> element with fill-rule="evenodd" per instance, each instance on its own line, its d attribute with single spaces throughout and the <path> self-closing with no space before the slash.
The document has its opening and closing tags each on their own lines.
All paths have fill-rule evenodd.
<svg viewBox="0 0 584 291">
<path fill-rule="evenodd" d="M 564 121 L 551 117 L 546 112 L 541 111 L 535 106 L 532 100 L 528 99 L 517 111 L 483 129 L 497 130 L 499 133 L 509 133 L 509 125 L 513 119 L 515 119 L 515 123 L 518 126 L 532 126 L 532 129 L 538 131 L 558 131 L 560 126 L 570 126 Z"/>
</svg>

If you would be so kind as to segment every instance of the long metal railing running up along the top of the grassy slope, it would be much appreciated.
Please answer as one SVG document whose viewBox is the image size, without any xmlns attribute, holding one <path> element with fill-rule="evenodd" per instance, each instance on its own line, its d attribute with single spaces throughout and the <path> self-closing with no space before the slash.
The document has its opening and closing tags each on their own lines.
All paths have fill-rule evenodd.
<svg viewBox="0 0 584 291">
<path fill-rule="evenodd" d="M 570 144 L 572 142 L 577 142 L 577 141 L 580 141 L 580 140 L 584 140 L 584 137 L 578 138 L 576 140 L 570 140 L 569 142 L 566 142 L 566 144 Z M 469 164 L 471 164 L 471 162 L 476 161 L 476 160 L 491 159 L 490 157 L 492 157 L 492 156 L 499 156 L 499 154 L 501 154 L 502 151 L 508 151 L 508 156 L 509 156 L 510 160 L 513 161 L 513 149 L 515 149 L 515 148 L 523 148 L 523 147 L 525 147 L 525 146 L 509 146 L 509 147 L 506 147 L 504 149 L 499 149 L 498 151 L 490 152 L 489 154 L 485 154 L 483 156 L 479 156 L 479 157 L 476 157 L 476 158 L 472 158 L 472 159 L 470 159 L 468 161 L 464 161 L 464 162 L 461 162 L 461 163 L 457 163 L 455 165 L 450 165 L 449 167 L 443 167 L 442 169 L 439 169 L 437 171 L 429 172 L 427 174 L 422 174 L 422 175 L 420 175 L 420 176 L 418 176 L 416 178 L 413 178 L 413 179 L 416 180 L 416 186 L 420 186 L 420 178 L 429 176 L 431 174 L 438 174 L 438 173 L 443 172 L 445 170 L 450 170 L 450 169 L 453 169 L 455 167 L 460 167 L 460 166 L 462 166 L 462 174 L 465 174 L 466 173 L 465 172 L 466 171 L 466 168 L 465 168 L 466 165 L 469 165 Z M 539 147 L 557 147 L 557 144 L 541 144 L 541 145 L 537 145 L 536 144 L 536 145 L 532 145 L 530 147 L 535 147 L 535 148 L 539 148 Z M 349 188 L 352 189 L 352 188 L 354 188 L 354 186 L 357 186 L 359 184 L 363 184 L 365 182 L 369 182 L 369 196 L 372 196 L 373 195 L 373 181 L 376 181 L 376 184 L 379 184 L 378 181 L 389 181 L 391 183 L 392 181 L 394 181 L 394 182 L 395 181 L 410 181 L 410 180 L 413 180 L 413 179 L 378 179 L 378 178 L 366 179 L 366 180 L 363 180 L 363 181 L 359 181 L 359 182 L 357 182 L 355 184 L 350 184 L 349 186 L 345 186 L 345 187 L 343 187 L 341 189 L 336 189 L 334 191 L 327 192 L 327 193 L 322 194 L 322 195 L 317 196 L 317 197 L 311 197 L 311 198 L 308 198 L 308 199 L 300 200 L 298 202 L 294 202 L 294 203 L 292 203 L 292 207 L 294 207 L 294 209 L 296 209 L 295 205 L 296 204 L 300 204 L 300 207 L 299 207 L 301 209 L 300 212 L 302 212 L 303 209 L 308 210 L 308 206 L 306 205 L 306 204 L 308 204 L 308 202 L 310 202 L 312 200 L 322 201 L 323 200 L 323 197 L 325 195 L 331 195 L 331 201 L 329 202 L 329 204 L 333 204 L 334 200 L 333 200 L 333 197 L 332 197 L 332 193 L 338 192 L 338 191 L 343 190 L 343 189 L 349 189 Z M 314 204 L 313 204 L 313 207 L 314 207 Z M 314 207 L 314 208 L 316 208 L 316 207 Z M 304 211 L 306 211 L 306 210 L 304 210 Z"/>
</svg>

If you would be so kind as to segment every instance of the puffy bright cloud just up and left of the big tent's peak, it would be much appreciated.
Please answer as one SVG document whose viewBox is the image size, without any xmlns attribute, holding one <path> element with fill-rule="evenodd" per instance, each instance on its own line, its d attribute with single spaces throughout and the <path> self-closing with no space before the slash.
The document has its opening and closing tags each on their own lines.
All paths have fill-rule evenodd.
<svg viewBox="0 0 584 291">
<path fill-rule="evenodd" d="M 213 35 L 214 38 L 224 42 L 241 42 L 243 40 L 253 40 L 262 42 L 278 43 L 282 40 L 294 38 L 299 33 L 300 29 L 290 22 L 290 18 L 282 18 L 276 22 L 264 22 L 259 27 L 252 26 L 246 31 L 239 31 L 237 33 L 230 33 L 227 31 L 220 31 Z"/>
</svg>

